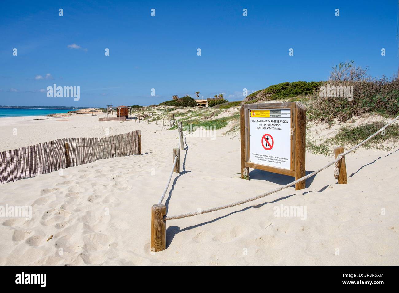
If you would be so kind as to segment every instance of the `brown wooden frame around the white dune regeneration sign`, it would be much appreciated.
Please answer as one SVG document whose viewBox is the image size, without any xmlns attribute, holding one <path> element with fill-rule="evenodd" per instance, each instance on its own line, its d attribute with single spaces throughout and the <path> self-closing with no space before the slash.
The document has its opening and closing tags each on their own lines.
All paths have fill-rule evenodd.
<svg viewBox="0 0 399 293">
<path fill-rule="evenodd" d="M 249 112 L 250 110 L 290 109 L 291 120 L 291 152 L 290 169 L 272 167 L 259 163 L 250 162 L 249 146 Z M 257 103 L 244 104 L 240 109 L 241 126 L 241 178 L 245 179 L 249 168 L 269 171 L 273 173 L 295 177 L 295 180 L 306 175 L 305 153 L 306 153 L 306 108 L 301 102 L 285 103 Z M 246 174 L 245 174 L 246 173 Z M 304 189 L 305 180 L 295 185 L 295 190 Z"/>
</svg>

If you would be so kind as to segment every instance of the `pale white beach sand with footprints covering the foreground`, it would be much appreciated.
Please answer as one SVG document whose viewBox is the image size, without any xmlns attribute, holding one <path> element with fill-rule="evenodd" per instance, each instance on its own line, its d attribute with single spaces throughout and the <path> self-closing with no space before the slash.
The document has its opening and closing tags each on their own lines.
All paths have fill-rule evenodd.
<svg viewBox="0 0 399 293">
<path fill-rule="evenodd" d="M 330 167 L 301 191 L 290 187 L 245 205 L 167 221 L 168 247 L 152 255 L 150 209 L 168 179 L 177 131 L 97 118 L 0 119 L 0 151 L 57 138 L 104 136 L 108 128 L 110 135 L 142 130 L 143 152 L 0 185 L 0 205 L 32 205 L 32 220 L 0 218 L 0 265 L 398 264 L 397 147 L 348 155 L 347 185 L 336 184 Z M 172 177 L 172 193 L 165 198 L 169 215 L 246 199 L 293 180 L 252 169 L 250 181 L 232 178 L 240 169 L 238 136 L 186 141 L 184 171 Z M 331 159 L 307 153 L 306 170 Z M 280 204 L 306 206 L 306 220 L 275 217 L 273 208 Z"/>
</svg>

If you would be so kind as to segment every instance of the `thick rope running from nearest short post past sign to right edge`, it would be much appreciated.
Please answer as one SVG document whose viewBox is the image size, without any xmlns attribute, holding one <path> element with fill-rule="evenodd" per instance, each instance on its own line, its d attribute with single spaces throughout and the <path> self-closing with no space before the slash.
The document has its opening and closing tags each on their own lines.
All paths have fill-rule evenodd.
<svg viewBox="0 0 399 293">
<path fill-rule="evenodd" d="M 244 199 L 244 200 L 242 200 L 242 201 L 237 201 L 237 202 L 231 203 L 231 204 L 229 204 L 229 205 L 218 206 L 218 207 L 216 207 L 216 208 L 208 208 L 208 209 L 206 209 L 206 210 L 201 210 L 201 211 L 197 211 L 197 212 L 189 212 L 189 213 L 186 213 L 186 214 L 179 214 L 179 215 L 177 215 L 177 216 L 165 216 L 164 219 L 165 219 L 165 220 L 176 220 L 176 219 L 181 219 L 181 218 L 187 218 L 187 217 L 191 217 L 191 216 L 196 216 L 196 215 L 199 215 L 199 214 L 206 214 L 206 213 L 208 213 L 208 212 L 215 212 L 216 210 L 223 210 L 223 209 L 225 209 L 225 208 L 230 208 L 230 207 L 232 207 L 232 206 L 242 205 L 243 203 L 248 203 L 248 202 L 250 202 L 250 201 L 255 201 L 256 199 L 261 199 L 262 197 L 266 197 L 267 195 L 271 195 L 271 194 L 273 194 L 273 193 L 276 193 L 277 191 L 286 189 L 286 188 L 288 188 L 288 187 L 290 187 L 290 186 L 292 186 L 292 185 L 295 185 L 296 183 L 302 182 L 302 181 L 304 181 L 304 180 L 306 180 L 306 179 L 308 179 L 308 178 L 310 178 L 310 177 L 316 175 L 316 174 L 319 173 L 320 171 L 323 171 L 324 169 L 327 169 L 327 168 L 330 167 L 331 165 L 337 163 L 338 161 L 340 161 L 340 159 L 341 159 L 344 155 L 347 155 L 348 153 L 351 153 L 352 151 L 354 151 L 354 150 L 358 149 L 359 147 L 361 147 L 363 144 L 365 144 L 366 142 L 368 142 L 369 140 L 371 140 L 371 138 L 373 138 L 374 136 L 376 136 L 377 134 L 379 134 L 381 131 L 383 131 L 385 128 L 387 128 L 389 125 L 391 125 L 391 124 L 392 124 L 395 120 L 397 120 L 398 118 L 399 118 L 399 116 L 397 116 L 395 119 L 393 119 L 391 122 L 389 122 L 387 125 L 385 125 L 385 126 L 384 126 L 383 128 L 381 128 L 380 130 L 378 130 L 377 132 L 375 132 L 375 134 L 373 134 L 373 135 L 369 136 L 368 138 L 366 138 L 365 140 L 363 140 L 363 142 L 361 142 L 361 143 L 357 144 L 356 146 L 352 147 L 350 150 L 348 150 L 348 151 L 346 151 L 346 152 L 344 152 L 344 153 L 340 153 L 340 154 L 338 155 L 338 157 L 337 157 L 334 161 L 328 163 L 328 164 L 325 165 L 324 167 L 322 167 L 322 168 L 320 168 L 320 169 L 317 169 L 316 171 L 314 171 L 314 172 L 312 172 L 312 173 L 310 173 L 310 174 L 308 174 L 308 175 L 306 175 L 306 176 L 304 176 L 304 177 L 302 177 L 302 178 L 299 178 L 298 180 L 292 181 L 291 183 L 288 183 L 288 184 L 286 184 L 286 185 L 284 185 L 284 186 L 277 187 L 276 189 L 273 189 L 272 191 L 268 191 L 268 192 L 263 193 L 263 194 L 261 194 L 261 195 L 258 195 L 258 196 L 256 196 L 256 197 L 251 197 L 251 198 L 249 198 L 249 199 Z"/>
</svg>

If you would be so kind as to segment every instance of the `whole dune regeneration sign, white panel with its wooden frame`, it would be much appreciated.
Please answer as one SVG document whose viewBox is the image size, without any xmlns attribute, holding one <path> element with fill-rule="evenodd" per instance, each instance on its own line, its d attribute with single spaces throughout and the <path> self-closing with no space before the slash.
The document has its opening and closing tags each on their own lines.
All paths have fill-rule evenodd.
<svg viewBox="0 0 399 293">
<path fill-rule="evenodd" d="M 300 102 L 244 104 L 241 122 L 241 178 L 248 169 L 293 176 L 305 173 L 306 109 Z M 295 185 L 304 189 L 305 181 Z"/>
</svg>

